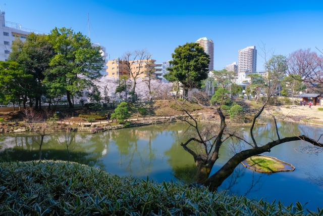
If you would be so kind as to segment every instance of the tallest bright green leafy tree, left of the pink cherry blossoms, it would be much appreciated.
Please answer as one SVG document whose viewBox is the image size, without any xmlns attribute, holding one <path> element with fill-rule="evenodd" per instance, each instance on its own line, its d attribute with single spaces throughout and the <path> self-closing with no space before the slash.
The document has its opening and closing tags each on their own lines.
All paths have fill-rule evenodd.
<svg viewBox="0 0 323 216">
<path fill-rule="evenodd" d="M 92 48 L 91 41 L 81 32 L 75 33 L 68 28 L 55 28 L 48 35 L 56 55 L 49 63 L 46 73 L 46 85 L 60 85 L 66 91 L 70 108 L 74 107 L 74 98 L 82 90 L 93 86 L 92 80 L 100 77 L 103 58 L 99 48 Z"/>
</svg>

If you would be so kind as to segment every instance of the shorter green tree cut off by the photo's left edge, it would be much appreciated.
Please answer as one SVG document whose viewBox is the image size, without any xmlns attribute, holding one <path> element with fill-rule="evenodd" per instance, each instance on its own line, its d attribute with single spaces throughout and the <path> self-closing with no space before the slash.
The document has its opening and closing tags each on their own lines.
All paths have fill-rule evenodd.
<svg viewBox="0 0 323 216">
<path fill-rule="evenodd" d="M 33 76 L 27 74 L 17 62 L 0 62 L 0 102 L 2 104 L 15 103 L 19 106 L 30 94 Z"/>
</svg>

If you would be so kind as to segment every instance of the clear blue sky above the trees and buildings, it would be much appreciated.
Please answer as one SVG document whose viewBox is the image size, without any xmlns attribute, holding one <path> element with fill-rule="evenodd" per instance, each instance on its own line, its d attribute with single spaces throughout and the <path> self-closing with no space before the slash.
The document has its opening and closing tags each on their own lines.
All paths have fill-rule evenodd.
<svg viewBox="0 0 323 216">
<path fill-rule="evenodd" d="M 157 62 L 174 49 L 208 37 L 214 42 L 214 68 L 238 61 L 238 50 L 261 41 L 276 54 L 323 49 L 323 1 L 21 1 L 9 0 L 6 20 L 50 32 L 71 27 L 106 47 L 111 58 L 146 48 Z M 262 70 L 258 56 L 257 70 Z"/>
</svg>

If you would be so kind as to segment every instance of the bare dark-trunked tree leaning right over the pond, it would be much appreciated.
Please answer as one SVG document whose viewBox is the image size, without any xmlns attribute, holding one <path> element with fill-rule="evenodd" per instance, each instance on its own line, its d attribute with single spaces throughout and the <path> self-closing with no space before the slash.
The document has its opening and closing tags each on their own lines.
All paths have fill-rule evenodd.
<svg viewBox="0 0 323 216">
<path fill-rule="evenodd" d="M 189 128 L 194 133 L 189 134 L 189 137 L 185 143 L 181 143 L 181 146 L 189 152 L 195 161 L 197 166 L 197 183 L 209 187 L 211 190 L 217 190 L 217 188 L 233 173 L 234 169 L 245 159 L 262 154 L 264 152 L 270 152 L 275 146 L 288 143 L 291 141 L 303 141 L 307 143 L 308 147 L 316 148 L 317 151 L 323 150 L 323 144 L 320 140 L 314 140 L 306 135 L 298 135 L 291 137 L 281 137 L 279 127 L 277 126 L 275 116 L 275 137 L 272 137 L 273 141 L 266 144 L 257 143 L 254 137 L 254 126 L 257 118 L 266 108 L 275 101 L 277 94 L 277 88 L 279 87 L 282 78 L 285 75 L 285 71 L 282 66 L 285 66 L 279 60 L 280 56 L 273 56 L 268 62 L 266 62 L 266 85 L 263 85 L 263 90 L 266 96 L 259 100 L 262 106 L 256 111 L 252 119 L 252 125 L 250 127 L 249 137 L 246 139 L 240 130 L 228 126 L 226 117 L 222 111 L 221 105 L 219 107 L 213 107 L 209 104 L 208 99 L 202 93 L 196 93 L 190 99 L 196 100 L 202 107 L 211 108 L 214 113 L 219 115 L 220 125 L 207 123 L 198 124 L 196 117 L 191 114 L 187 108 L 185 108 L 186 100 L 183 102 L 177 101 L 181 105 L 182 109 L 186 113 L 187 117 L 180 116 L 180 120 L 186 122 Z M 269 65 L 270 64 L 270 65 Z M 275 105 L 275 104 L 274 104 Z M 231 143 L 231 149 L 234 155 L 224 164 L 215 174 L 210 176 L 213 165 L 219 159 L 219 152 L 225 142 Z M 248 146 L 248 148 L 244 148 Z"/>
</svg>

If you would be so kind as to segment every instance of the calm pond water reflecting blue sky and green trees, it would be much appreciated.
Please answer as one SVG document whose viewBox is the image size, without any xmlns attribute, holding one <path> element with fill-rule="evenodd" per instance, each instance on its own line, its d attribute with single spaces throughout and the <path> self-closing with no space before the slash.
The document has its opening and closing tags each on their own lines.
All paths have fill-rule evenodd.
<svg viewBox="0 0 323 216">
<path fill-rule="evenodd" d="M 291 122 L 278 122 L 281 137 L 307 135 L 318 138 L 323 128 Z M 194 176 L 194 160 L 180 146 L 184 142 L 184 123 L 172 123 L 167 127 L 149 125 L 130 127 L 99 134 L 77 133 L 77 148 L 72 160 L 90 166 L 99 166 L 107 172 L 119 176 L 152 178 L 155 181 L 189 181 Z M 249 127 L 240 127 L 246 135 Z M 265 144 L 276 139 L 271 123 L 254 129 L 257 143 Z M 60 143 L 63 134 L 45 137 L 42 156 L 45 159 L 67 160 L 66 150 Z M 223 183 L 220 190 L 245 195 L 248 198 L 280 200 L 289 205 L 300 201 L 307 208 L 316 210 L 323 207 L 323 188 L 308 180 L 308 175 L 323 175 L 322 154 L 300 154 L 304 142 L 295 141 L 281 144 L 265 155 L 277 157 L 293 164 L 293 172 L 278 172 L 271 175 L 260 174 L 243 167 L 241 164 Z M 0 135 L 0 161 L 27 161 L 38 159 L 39 146 L 33 141 L 32 134 Z M 297 152 L 297 151 L 298 152 Z M 220 158 L 212 169 L 212 174 L 228 161 L 232 155 L 229 145 L 223 145 Z"/>
</svg>

